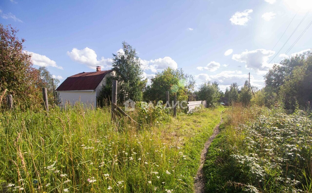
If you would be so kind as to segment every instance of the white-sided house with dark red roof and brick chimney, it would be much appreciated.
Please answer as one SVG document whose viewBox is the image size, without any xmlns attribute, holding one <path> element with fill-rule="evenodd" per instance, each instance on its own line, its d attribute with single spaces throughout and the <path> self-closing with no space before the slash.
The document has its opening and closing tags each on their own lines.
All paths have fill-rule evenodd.
<svg viewBox="0 0 312 193">
<path fill-rule="evenodd" d="M 101 71 L 101 67 L 96 67 L 96 72 L 81 72 L 68 77 L 56 89 L 61 100 L 61 106 L 67 104 L 74 105 L 80 102 L 96 107 L 96 98 L 100 96 L 106 78 L 111 76 L 113 70 Z"/>
</svg>

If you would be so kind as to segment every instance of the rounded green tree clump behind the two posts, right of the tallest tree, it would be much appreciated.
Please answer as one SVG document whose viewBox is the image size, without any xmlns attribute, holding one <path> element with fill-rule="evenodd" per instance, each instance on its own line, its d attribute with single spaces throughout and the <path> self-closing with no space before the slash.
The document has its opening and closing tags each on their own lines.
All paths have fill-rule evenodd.
<svg viewBox="0 0 312 193">
<path fill-rule="evenodd" d="M 185 74 L 180 68 L 174 70 L 170 67 L 151 79 L 151 84 L 144 91 L 144 99 L 147 101 L 166 101 L 166 91 L 169 91 L 170 101 L 173 94 L 177 93 L 177 100 L 188 100 L 188 95 L 194 89 L 195 81 L 192 75 Z"/>
</svg>

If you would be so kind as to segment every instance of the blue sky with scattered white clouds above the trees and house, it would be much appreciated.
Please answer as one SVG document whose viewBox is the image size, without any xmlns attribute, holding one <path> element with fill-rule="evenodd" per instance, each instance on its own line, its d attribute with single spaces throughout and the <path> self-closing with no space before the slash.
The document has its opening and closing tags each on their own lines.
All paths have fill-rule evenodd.
<svg viewBox="0 0 312 193">
<path fill-rule="evenodd" d="M 97 65 L 107 70 L 126 41 L 139 52 L 145 77 L 181 67 L 197 84 L 217 81 L 225 90 L 243 84 L 248 72 L 251 84 L 263 87 L 262 75 L 312 21 L 311 8 L 311 0 L 2 0 L 0 23 L 19 29 L 34 66 L 47 66 L 61 82 Z M 311 32 L 287 55 L 311 49 Z"/>
</svg>

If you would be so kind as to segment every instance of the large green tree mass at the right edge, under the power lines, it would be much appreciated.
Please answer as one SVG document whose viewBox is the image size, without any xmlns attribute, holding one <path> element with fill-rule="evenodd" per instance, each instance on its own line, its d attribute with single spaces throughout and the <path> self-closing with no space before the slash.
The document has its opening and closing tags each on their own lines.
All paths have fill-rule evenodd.
<svg viewBox="0 0 312 193">
<path fill-rule="evenodd" d="M 306 52 L 287 58 L 269 70 L 265 76 L 266 96 L 277 96 L 273 101 L 283 101 L 285 108 L 295 110 L 296 104 L 306 108 L 312 102 L 312 54 Z M 271 100 L 266 101 L 270 102 Z M 271 102 L 272 103 L 272 102 Z M 269 106 L 269 105 L 267 105 Z"/>
</svg>

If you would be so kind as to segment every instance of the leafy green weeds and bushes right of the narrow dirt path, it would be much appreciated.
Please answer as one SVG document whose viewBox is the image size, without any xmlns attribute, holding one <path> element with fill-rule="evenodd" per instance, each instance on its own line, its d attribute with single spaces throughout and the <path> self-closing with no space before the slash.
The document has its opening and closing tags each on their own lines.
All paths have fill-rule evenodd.
<svg viewBox="0 0 312 193">
<path fill-rule="evenodd" d="M 312 121 L 306 113 L 231 111 L 208 150 L 207 192 L 310 192 Z M 233 121 L 242 114 L 253 118 L 235 127 Z"/>
</svg>

